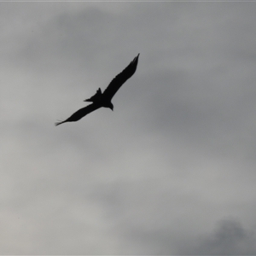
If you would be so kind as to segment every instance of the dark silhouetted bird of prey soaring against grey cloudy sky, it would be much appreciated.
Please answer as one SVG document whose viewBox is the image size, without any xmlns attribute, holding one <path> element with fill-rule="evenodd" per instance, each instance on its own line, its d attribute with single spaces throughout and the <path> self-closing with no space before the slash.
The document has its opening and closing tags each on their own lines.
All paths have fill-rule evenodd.
<svg viewBox="0 0 256 256">
<path fill-rule="evenodd" d="M 76 122 L 79 119 L 83 118 L 86 114 L 95 111 L 98 108 L 110 108 L 113 110 L 113 104 L 111 102 L 115 93 L 119 90 L 119 88 L 125 84 L 125 82 L 131 78 L 131 76 L 136 72 L 137 69 L 137 61 L 139 55 L 131 61 L 131 63 L 125 67 L 125 69 L 119 73 L 111 82 L 108 84 L 106 90 L 103 91 L 99 88 L 96 91 L 94 96 L 91 96 L 89 99 L 84 100 L 84 102 L 92 102 L 90 105 L 87 105 L 84 108 L 80 108 L 77 112 L 73 113 L 68 119 L 57 122 L 55 125 L 61 125 L 66 122 Z"/>
</svg>

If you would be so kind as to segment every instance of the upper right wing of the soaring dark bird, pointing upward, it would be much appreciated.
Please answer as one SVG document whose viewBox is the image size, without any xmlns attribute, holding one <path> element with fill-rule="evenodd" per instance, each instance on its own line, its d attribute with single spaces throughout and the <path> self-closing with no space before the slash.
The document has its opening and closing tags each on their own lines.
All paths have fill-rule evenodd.
<svg viewBox="0 0 256 256">
<path fill-rule="evenodd" d="M 122 84 L 130 79 L 136 72 L 139 55 L 140 54 L 138 54 L 137 57 L 135 57 L 133 61 L 131 61 L 131 63 L 110 82 L 107 89 L 104 90 L 103 96 L 108 98 L 109 101 L 113 98 L 114 94 L 119 90 Z"/>
</svg>

